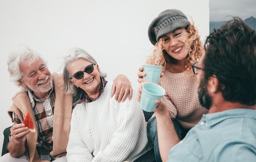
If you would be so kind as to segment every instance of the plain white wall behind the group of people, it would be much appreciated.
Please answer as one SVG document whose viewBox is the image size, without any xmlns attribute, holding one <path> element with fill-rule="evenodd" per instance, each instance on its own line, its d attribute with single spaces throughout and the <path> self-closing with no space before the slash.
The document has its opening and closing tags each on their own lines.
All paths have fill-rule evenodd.
<svg viewBox="0 0 256 162">
<path fill-rule="evenodd" d="M 191 16 L 202 41 L 209 33 L 209 0 L 0 0 L 0 147 L 11 126 L 7 110 L 18 90 L 9 81 L 7 56 L 19 44 L 41 53 L 50 71 L 72 47 L 87 50 L 112 81 L 122 73 L 137 91 L 137 72 L 153 45 L 148 25 L 165 9 Z"/>
</svg>

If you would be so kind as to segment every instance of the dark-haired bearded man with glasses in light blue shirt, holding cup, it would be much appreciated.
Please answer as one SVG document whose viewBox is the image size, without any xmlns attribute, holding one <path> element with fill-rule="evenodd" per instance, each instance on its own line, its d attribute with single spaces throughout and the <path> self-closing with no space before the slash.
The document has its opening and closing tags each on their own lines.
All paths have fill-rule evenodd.
<svg viewBox="0 0 256 162">
<path fill-rule="evenodd" d="M 167 162 L 256 162 L 256 31 L 233 17 L 212 31 L 192 65 L 209 113 L 180 140 L 157 100 L 159 151 Z M 139 90 L 141 91 L 141 85 Z M 167 112 L 167 113 L 166 113 Z"/>
</svg>

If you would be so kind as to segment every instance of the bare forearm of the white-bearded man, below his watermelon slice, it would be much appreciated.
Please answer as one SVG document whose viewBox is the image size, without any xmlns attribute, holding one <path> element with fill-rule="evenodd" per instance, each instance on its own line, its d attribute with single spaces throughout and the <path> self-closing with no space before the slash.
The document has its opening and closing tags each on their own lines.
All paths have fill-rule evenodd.
<svg viewBox="0 0 256 162">
<path fill-rule="evenodd" d="M 12 139 L 8 144 L 8 150 L 13 158 L 19 158 L 25 153 L 25 142 L 18 142 Z"/>
</svg>

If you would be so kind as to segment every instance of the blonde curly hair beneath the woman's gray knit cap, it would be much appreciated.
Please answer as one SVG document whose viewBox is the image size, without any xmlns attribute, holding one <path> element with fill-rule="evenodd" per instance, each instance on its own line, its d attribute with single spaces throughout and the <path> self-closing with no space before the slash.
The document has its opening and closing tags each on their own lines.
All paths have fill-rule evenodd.
<svg viewBox="0 0 256 162">
<path fill-rule="evenodd" d="M 184 62 L 184 64 L 186 71 L 190 71 L 192 69 L 191 65 L 202 56 L 204 48 L 198 34 L 198 29 L 196 29 L 193 21 L 185 29 L 189 36 L 189 39 L 185 43 L 191 44 L 191 46 L 189 48 L 188 55 L 186 56 L 186 62 Z M 153 53 L 149 55 L 146 59 L 146 64 L 162 66 L 162 71 L 166 69 L 167 64 L 177 64 L 177 60 L 171 57 L 164 50 L 163 44 L 164 38 L 162 37 L 155 44 L 155 49 L 153 50 Z"/>
</svg>

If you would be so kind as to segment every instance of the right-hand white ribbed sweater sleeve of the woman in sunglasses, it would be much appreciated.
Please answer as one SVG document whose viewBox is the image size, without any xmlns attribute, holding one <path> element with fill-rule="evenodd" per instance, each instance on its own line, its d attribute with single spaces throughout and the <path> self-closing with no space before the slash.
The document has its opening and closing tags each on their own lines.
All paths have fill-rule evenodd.
<svg viewBox="0 0 256 162">
<path fill-rule="evenodd" d="M 110 107 L 116 109 L 117 130 L 112 135 L 111 142 L 104 150 L 97 153 L 92 162 L 121 162 L 127 160 L 132 151 L 139 153 L 139 150 L 145 146 L 143 140 L 138 140 L 145 119 L 136 95 L 132 95 L 132 100 L 126 99 L 125 102 L 120 103 L 112 98 Z M 147 137 L 144 139 L 147 139 Z"/>
</svg>

